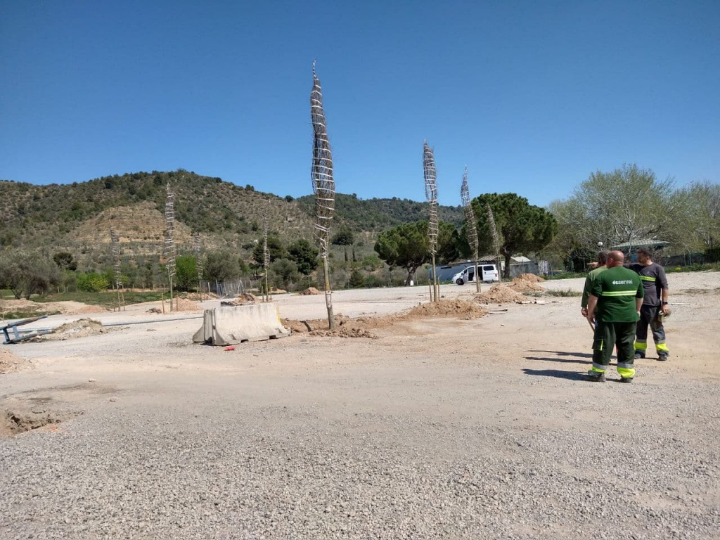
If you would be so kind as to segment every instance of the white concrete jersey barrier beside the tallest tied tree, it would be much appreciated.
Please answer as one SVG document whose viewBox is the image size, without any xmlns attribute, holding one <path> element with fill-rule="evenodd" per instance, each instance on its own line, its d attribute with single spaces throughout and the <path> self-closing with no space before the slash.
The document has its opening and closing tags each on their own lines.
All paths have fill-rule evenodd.
<svg viewBox="0 0 720 540">
<path fill-rule="evenodd" d="M 197 330 L 192 341 L 225 346 L 289 335 L 290 330 L 280 322 L 277 306 L 264 303 L 205 310 L 202 328 Z"/>
</svg>

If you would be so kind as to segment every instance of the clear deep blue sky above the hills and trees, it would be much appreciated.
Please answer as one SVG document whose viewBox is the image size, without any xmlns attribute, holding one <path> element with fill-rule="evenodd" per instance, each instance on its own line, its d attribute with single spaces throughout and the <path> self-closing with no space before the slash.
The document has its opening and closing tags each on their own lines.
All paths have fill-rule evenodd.
<svg viewBox="0 0 720 540">
<path fill-rule="evenodd" d="M 312 192 L 567 197 L 595 170 L 720 181 L 718 1 L 0 0 L 0 179 L 186 168 Z"/>
</svg>

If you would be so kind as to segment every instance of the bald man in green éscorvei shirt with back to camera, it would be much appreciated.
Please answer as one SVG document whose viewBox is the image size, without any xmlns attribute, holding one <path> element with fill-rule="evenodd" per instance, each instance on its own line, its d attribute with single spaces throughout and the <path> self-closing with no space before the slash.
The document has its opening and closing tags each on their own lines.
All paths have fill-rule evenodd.
<svg viewBox="0 0 720 540">
<path fill-rule="evenodd" d="M 608 269 L 595 277 L 590 289 L 587 318 L 595 325 L 595 336 L 588 379 L 593 382 L 605 382 L 613 345 L 621 381 L 632 382 L 635 377 L 635 328 L 645 292 L 639 276 L 624 268 L 624 262 L 622 251 L 608 253 Z"/>
</svg>

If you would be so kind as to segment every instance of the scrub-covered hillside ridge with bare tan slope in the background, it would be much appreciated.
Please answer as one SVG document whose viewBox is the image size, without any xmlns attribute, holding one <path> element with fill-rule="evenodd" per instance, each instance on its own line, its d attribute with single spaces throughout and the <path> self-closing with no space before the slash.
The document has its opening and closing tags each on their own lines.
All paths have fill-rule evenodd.
<svg viewBox="0 0 720 540">
<path fill-rule="evenodd" d="M 293 199 L 190 171 L 114 174 L 72 184 L 0 181 L 0 248 L 93 251 L 113 228 L 132 251 L 152 253 L 163 243 L 166 188 L 174 192 L 176 238 L 189 249 L 198 233 L 205 248 L 248 250 L 269 230 L 284 238 L 312 238 L 314 198 Z M 462 208 L 440 207 L 442 220 L 460 226 Z M 426 203 L 336 195 L 333 228 L 372 240 L 382 230 L 426 218 Z"/>
</svg>

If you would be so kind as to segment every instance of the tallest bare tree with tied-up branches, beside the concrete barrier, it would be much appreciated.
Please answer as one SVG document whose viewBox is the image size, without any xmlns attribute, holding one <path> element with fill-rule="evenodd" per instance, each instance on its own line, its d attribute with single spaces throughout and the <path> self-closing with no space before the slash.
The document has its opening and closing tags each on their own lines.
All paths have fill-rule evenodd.
<svg viewBox="0 0 720 540">
<path fill-rule="evenodd" d="M 328 325 L 335 328 L 333 316 L 333 292 L 330 289 L 330 262 L 328 261 L 328 238 L 330 222 L 335 215 L 335 181 L 333 181 L 333 156 L 330 153 L 328 128 L 325 124 L 323 91 L 320 79 L 312 63 L 312 91 L 310 91 L 310 117 L 312 118 L 312 192 L 315 194 L 314 235 L 320 247 L 320 260 L 325 274 L 325 305 L 328 307 Z"/>
</svg>

